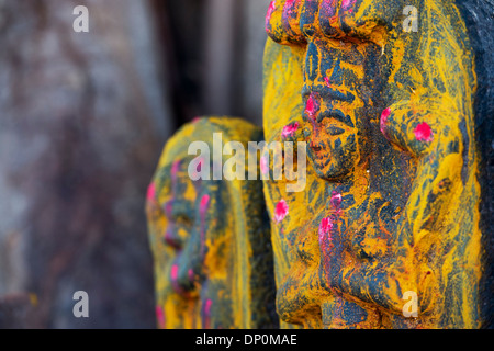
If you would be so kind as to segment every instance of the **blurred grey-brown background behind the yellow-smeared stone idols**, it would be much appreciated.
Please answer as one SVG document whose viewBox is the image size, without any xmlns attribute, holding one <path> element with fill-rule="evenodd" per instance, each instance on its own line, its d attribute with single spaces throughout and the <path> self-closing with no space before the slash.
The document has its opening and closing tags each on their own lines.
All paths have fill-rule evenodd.
<svg viewBox="0 0 494 351">
<path fill-rule="evenodd" d="M 155 327 L 147 183 L 194 116 L 261 124 L 268 4 L 0 0 L 0 328 Z"/>
</svg>

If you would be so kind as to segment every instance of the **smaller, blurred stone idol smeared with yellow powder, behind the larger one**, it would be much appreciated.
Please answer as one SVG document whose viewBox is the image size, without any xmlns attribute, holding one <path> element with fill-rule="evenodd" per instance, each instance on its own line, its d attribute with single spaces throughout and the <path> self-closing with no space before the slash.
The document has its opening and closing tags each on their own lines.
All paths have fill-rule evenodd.
<svg viewBox="0 0 494 351">
<path fill-rule="evenodd" d="M 245 149 L 248 141 L 262 139 L 260 128 L 242 120 L 211 117 L 187 124 L 167 143 L 149 185 L 158 324 L 169 329 L 274 328 L 276 287 L 261 181 L 192 180 L 198 178 L 191 172 L 212 170 L 215 162 L 229 159 L 217 159 L 213 151 L 217 133 L 224 143 L 236 141 Z M 215 155 L 198 162 L 189 155 L 197 141 Z M 237 156 L 247 162 L 245 155 Z"/>
</svg>

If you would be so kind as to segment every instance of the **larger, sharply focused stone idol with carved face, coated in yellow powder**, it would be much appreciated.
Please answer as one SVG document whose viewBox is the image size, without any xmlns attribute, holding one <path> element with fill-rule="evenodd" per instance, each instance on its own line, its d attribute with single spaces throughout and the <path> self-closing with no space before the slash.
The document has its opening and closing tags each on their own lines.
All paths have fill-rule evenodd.
<svg viewBox="0 0 494 351">
<path fill-rule="evenodd" d="M 483 322 L 475 126 L 492 109 L 465 18 L 454 1 L 271 3 L 266 140 L 310 159 L 303 192 L 265 182 L 282 327 Z"/>
</svg>

